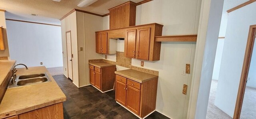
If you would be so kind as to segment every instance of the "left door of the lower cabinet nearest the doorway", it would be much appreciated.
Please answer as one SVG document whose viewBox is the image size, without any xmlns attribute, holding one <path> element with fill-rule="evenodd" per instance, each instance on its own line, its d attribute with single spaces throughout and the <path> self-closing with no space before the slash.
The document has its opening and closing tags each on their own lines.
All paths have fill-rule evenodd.
<svg viewBox="0 0 256 119">
<path fill-rule="evenodd" d="M 126 106 L 126 84 L 116 81 L 116 101 Z"/>
</svg>

